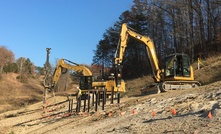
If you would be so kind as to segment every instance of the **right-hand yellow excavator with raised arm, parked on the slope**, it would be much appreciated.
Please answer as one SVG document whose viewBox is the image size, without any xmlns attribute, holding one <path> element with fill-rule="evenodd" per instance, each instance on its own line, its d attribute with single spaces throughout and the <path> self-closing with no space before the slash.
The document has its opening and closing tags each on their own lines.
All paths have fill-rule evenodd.
<svg viewBox="0 0 221 134">
<path fill-rule="evenodd" d="M 129 36 L 140 41 L 146 46 L 153 72 L 153 79 L 155 83 L 157 83 L 159 92 L 200 86 L 200 83 L 194 80 L 193 67 L 190 65 L 188 55 L 183 53 L 174 53 L 167 56 L 165 58 L 165 67 L 162 69 L 159 66 L 153 41 L 147 36 L 136 33 L 132 28 L 128 27 L 126 23 L 123 23 L 114 59 L 115 80 L 117 87 L 120 88 L 121 86 L 122 61 Z"/>
</svg>

